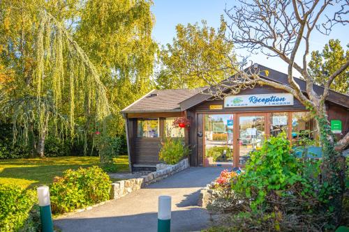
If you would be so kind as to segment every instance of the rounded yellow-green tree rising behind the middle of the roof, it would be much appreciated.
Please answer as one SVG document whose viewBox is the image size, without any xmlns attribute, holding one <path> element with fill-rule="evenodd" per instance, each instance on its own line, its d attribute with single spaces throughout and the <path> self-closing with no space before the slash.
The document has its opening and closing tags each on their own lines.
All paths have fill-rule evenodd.
<svg viewBox="0 0 349 232">
<path fill-rule="evenodd" d="M 156 77 L 158 88 L 196 88 L 207 82 L 219 82 L 234 73 L 233 45 L 225 40 L 226 26 L 216 31 L 202 21 L 202 26 L 176 26 L 172 45 L 161 48 L 161 71 Z"/>
</svg>

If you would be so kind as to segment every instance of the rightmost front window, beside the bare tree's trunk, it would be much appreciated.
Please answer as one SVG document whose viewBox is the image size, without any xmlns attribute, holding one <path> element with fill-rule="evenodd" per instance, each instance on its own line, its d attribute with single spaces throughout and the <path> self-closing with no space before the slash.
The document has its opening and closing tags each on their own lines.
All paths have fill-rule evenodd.
<svg viewBox="0 0 349 232">
<path fill-rule="evenodd" d="M 302 145 L 305 138 L 310 141 L 317 141 L 318 132 L 315 126 L 315 120 L 310 112 L 292 112 L 292 145 Z"/>
</svg>

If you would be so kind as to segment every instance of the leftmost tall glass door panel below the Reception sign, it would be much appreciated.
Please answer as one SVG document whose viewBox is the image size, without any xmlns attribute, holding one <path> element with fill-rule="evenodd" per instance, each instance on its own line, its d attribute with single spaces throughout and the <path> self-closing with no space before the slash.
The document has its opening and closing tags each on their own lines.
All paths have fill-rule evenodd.
<svg viewBox="0 0 349 232">
<path fill-rule="evenodd" d="M 205 114 L 205 166 L 232 166 L 233 115 Z"/>
</svg>

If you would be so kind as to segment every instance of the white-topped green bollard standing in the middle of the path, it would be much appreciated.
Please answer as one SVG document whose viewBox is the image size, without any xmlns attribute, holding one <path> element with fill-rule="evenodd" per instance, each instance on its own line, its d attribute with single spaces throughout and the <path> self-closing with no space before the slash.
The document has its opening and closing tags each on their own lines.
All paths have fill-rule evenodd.
<svg viewBox="0 0 349 232">
<path fill-rule="evenodd" d="M 171 230 L 171 196 L 158 196 L 158 232 Z"/>
</svg>

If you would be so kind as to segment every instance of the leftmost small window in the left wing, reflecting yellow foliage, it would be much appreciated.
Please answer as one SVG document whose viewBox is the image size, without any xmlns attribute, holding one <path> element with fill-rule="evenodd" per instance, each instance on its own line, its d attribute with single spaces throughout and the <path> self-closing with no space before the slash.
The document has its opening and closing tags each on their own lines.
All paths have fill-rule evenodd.
<svg viewBox="0 0 349 232">
<path fill-rule="evenodd" d="M 137 120 L 138 138 L 158 137 L 158 118 L 142 118 Z"/>
</svg>

